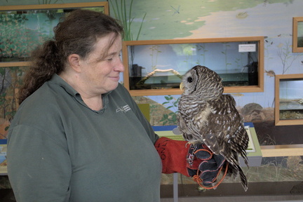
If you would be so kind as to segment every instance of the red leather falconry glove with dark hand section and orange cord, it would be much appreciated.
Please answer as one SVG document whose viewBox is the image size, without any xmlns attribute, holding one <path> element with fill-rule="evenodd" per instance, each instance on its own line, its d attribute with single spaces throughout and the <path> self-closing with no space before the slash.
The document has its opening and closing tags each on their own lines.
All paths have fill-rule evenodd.
<svg viewBox="0 0 303 202">
<path fill-rule="evenodd" d="M 162 173 L 181 173 L 187 177 L 194 177 L 201 187 L 212 185 L 226 162 L 222 155 L 213 154 L 205 144 L 191 145 L 187 144 L 187 141 L 161 137 L 154 145 L 161 157 Z"/>
</svg>

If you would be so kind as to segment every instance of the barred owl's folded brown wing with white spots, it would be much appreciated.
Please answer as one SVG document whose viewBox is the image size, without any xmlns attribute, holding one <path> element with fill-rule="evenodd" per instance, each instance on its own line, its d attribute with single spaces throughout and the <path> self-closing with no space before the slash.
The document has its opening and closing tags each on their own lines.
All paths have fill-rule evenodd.
<svg viewBox="0 0 303 202">
<path fill-rule="evenodd" d="M 245 157 L 248 134 L 235 103 L 231 95 L 222 95 L 219 101 L 210 102 L 212 113 L 208 116 L 208 126 L 201 128 L 201 135 L 215 154 L 231 156 L 237 152 Z"/>
</svg>

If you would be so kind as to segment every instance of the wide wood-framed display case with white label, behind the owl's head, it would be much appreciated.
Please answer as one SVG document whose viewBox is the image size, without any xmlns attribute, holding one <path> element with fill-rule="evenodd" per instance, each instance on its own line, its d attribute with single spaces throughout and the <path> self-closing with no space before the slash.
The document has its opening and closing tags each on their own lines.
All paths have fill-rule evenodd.
<svg viewBox="0 0 303 202">
<path fill-rule="evenodd" d="M 224 93 L 262 92 L 264 37 L 123 41 L 124 86 L 133 96 L 177 95 L 195 65 L 220 75 Z"/>
</svg>

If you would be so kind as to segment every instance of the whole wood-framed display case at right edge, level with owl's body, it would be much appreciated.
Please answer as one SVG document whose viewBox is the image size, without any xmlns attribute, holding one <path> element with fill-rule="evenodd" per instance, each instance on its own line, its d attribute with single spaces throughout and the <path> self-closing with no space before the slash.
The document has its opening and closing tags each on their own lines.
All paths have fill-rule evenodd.
<svg viewBox="0 0 303 202">
<path fill-rule="evenodd" d="M 276 75 L 276 125 L 303 124 L 303 74 Z"/>
</svg>

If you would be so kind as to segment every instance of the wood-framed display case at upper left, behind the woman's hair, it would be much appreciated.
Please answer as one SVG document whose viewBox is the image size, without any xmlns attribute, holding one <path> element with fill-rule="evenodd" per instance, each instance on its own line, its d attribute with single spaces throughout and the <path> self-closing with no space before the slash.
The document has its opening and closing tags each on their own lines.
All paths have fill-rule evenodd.
<svg viewBox="0 0 303 202">
<path fill-rule="evenodd" d="M 1 6 L 0 62 L 29 60 L 30 53 L 53 37 L 62 16 L 76 8 L 108 13 L 107 2 Z"/>
</svg>

